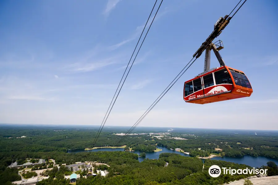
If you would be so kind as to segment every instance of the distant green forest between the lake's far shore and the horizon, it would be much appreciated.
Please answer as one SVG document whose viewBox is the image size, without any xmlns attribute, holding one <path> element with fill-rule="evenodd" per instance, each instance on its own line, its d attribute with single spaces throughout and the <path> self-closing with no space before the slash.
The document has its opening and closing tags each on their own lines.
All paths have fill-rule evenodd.
<svg viewBox="0 0 278 185">
<path fill-rule="evenodd" d="M 118 130 L 116 130 L 118 131 Z M 101 146 L 124 146 L 141 152 L 151 152 L 156 149 L 155 145 L 167 148 L 181 148 L 192 156 L 205 157 L 210 154 L 220 154 L 228 157 L 242 157 L 245 154 L 251 156 L 265 156 L 278 159 L 278 134 L 260 135 L 255 134 L 231 134 L 221 132 L 193 132 L 194 136 L 186 132 L 172 132 L 169 137 L 158 139 L 149 135 L 130 135 L 123 142 L 118 143 L 123 136 L 113 134 L 115 130 L 104 130 L 98 138 L 95 147 Z M 145 130 L 144 130 L 145 131 Z M 119 130 L 122 132 L 122 130 Z M 164 131 L 165 132 L 165 131 Z M 68 150 L 84 150 L 91 148 L 95 139 L 94 129 L 25 129 L 13 130 L 3 128 L 0 130 L 0 152 L 50 152 Z M 193 134 L 192 133 L 192 134 Z M 198 133 L 198 134 L 196 134 Z M 16 138 L 27 136 L 26 138 Z M 173 136 L 186 138 L 187 140 L 170 139 Z M 11 138 L 10 138 L 11 137 Z M 240 144 L 238 144 L 240 143 Z M 21 147 L 17 147 L 21 146 Z M 201 148 L 201 150 L 196 150 Z M 222 151 L 216 151 L 221 148 Z M 128 148 L 126 148 L 128 149 Z M 24 162 L 24 161 L 22 161 Z"/>
</svg>

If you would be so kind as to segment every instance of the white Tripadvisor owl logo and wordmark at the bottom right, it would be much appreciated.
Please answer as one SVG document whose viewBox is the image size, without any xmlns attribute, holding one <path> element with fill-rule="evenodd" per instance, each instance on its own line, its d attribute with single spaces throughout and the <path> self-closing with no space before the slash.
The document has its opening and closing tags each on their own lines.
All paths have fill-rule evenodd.
<svg viewBox="0 0 278 185">
<path fill-rule="evenodd" d="M 231 169 L 231 168 L 224 168 L 223 169 L 223 174 L 230 174 L 230 175 L 242 175 L 242 174 L 254 174 L 254 175 L 258 175 L 258 174 L 266 174 L 267 169 Z M 218 177 L 219 175 L 221 175 L 221 168 L 217 165 L 212 165 L 211 167 L 209 167 L 208 169 L 208 174 L 212 177 Z"/>
</svg>

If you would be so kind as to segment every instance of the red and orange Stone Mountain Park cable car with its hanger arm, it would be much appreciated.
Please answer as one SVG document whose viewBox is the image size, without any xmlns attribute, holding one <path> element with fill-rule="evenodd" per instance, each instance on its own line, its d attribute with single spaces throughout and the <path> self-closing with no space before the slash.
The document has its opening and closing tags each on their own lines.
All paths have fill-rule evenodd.
<svg viewBox="0 0 278 185">
<path fill-rule="evenodd" d="M 206 104 L 236 98 L 250 97 L 253 90 L 244 72 L 227 67 L 219 50 L 222 41 L 206 48 L 204 72 L 184 83 L 183 99 L 188 103 Z M 213 49 L 221 67 L 209 69 L 210 50 Z"/>
</svg>

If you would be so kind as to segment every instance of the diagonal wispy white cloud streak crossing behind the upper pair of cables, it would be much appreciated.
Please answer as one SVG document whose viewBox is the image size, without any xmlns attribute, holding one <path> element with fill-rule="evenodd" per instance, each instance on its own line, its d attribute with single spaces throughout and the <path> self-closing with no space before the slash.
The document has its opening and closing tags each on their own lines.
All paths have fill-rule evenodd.
<svg viewBox="0 0 278 185">
<path fill-rule="evenodd" d="M 154 22 L 157 21 L 158 19 L 160 19 L 163 15 L 165 15 L 166 13 L 170 12 L 170 10 L 168 9 L 168 7 L 165 7 L 164 10 L 159 13 L 158 11 L 158 14 L 155 16 L 155 19 L 154 19 L 154 16 L 150 17 L 147 25 L 146 25 L 146 28 L 144 30 L 144 32 L 146 33 L 146 30 L 148 30 L 148 28 L 150 27 L 150 24 L 152 22 L 152 20 L 154 19 Z M 114 44 L 112 46 L 109 47 L 110 50 L 115 50 L 117 49 L 118 47 L 128 43 L 128 42 L 131 42 L 133 41 L 134 39 L 137 39 L 139 37 L 139 35 L 141 35 L 144 27 L 145 27 L 145 24 L 142 24 L 141 26 L 138 26 L 135 30 L 135 32 L 128 38 L 128 39 L 125 39 L 123 41 L 121 41 L 120 43 L 117 43 L 117 44 Z M 142 37 L 144 36 L 144 34 L 142 35 Z"/>
</svg>

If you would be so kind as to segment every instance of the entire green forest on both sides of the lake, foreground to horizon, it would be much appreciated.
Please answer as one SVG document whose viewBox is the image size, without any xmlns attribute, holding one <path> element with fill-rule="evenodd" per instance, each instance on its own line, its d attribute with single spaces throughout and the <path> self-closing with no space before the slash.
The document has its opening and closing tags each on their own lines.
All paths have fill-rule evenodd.
<svg viewBox="0 0 278 185">
<path fill-rule="evenodd" d="M 238 165 L 231 162 L 206 159 L 203 163 L 199 158 L 210 154 L 221 156 L 242 157 L 243 155 L 266 156 L 278 158 L 278 134 L 234 134 L 229 131 L 172 131 L 163 138 L 156 138 L 148 134 L 130 135 L 122 143 L 116 145 L 123 136 L 115 133 L 124 132 L 121 128 L 104 129 L 99 136 L 95 147 L 101 146 L 124 146 L 124 150 L 139 150 L 140 156 L 145 152 L 153 152 L 156 146 L 165 146 L 175 149 L 181 148 L 189 152 L 193 157 L 184 157 L 178 154 L 162 153 L 159 159 L 145 159 L 138 161 L 138 155 L 130 152 L 80 152 L 67 153 L 68 150 L 84 150 L 91 148 L 98 128 L 24 128 L 24 127 L 1 127 L 0 129 L 0 178 L 2 183 L 10 185 L 11 182 L 20 180 L 18 169 L 11 169 L 7 166 L 12 162 L 23 164 L 26 159 L 37 162 L 36 159 L 55 159 L 61 166 L 75 162 L 97 161 L 107 163 L 110 167 L 99 166 L 98 169 L 106 169 L 107 177 L 97 175 L 96 177 L 80 178 L 76 184 L 221 184 L 245 178 L 244 175 L 222 175 L 218 178 L 211 178 L 208 175 L 208 168 L 217 164 L 218 166 L 230 166 L 235 168 L 246 168 L 246 165 Z M 149 132 L 166 132 L 165 130 L 150 130 Z M 146 130 L 137 130 L 135 133 L 146 133 Z M 26 138 L 18 138 L 26 136 Z M 185 138 L 177 140 L 172 137 Z M 216 148 L 221 149 L 215 150 Z M 200 150 L 198 150 L 200 149 Z M 167 166 L 166 162 L 168 163 Z M 53 163 L 48 162 L 48 168 Z M 32 171 L 46 169 L 45 165 L 36 165 Z M 268 163 L 262 168 L 269 169 L 269 175 L 278 175 L 277 165 Z M 36 176 L 33 172 L 26 172 L 24 176 Z M 49 179 L 43 180 L 40 184 L 69 184 L 63 179 L 63 175 L 69 175 L 70 169 L 57 170 L 54 167 L 48 170 Z M 86 171 L 80 174 L 85 175 Z M 54 179 L 56 178 L 56 179 Z"/>
</svg>

